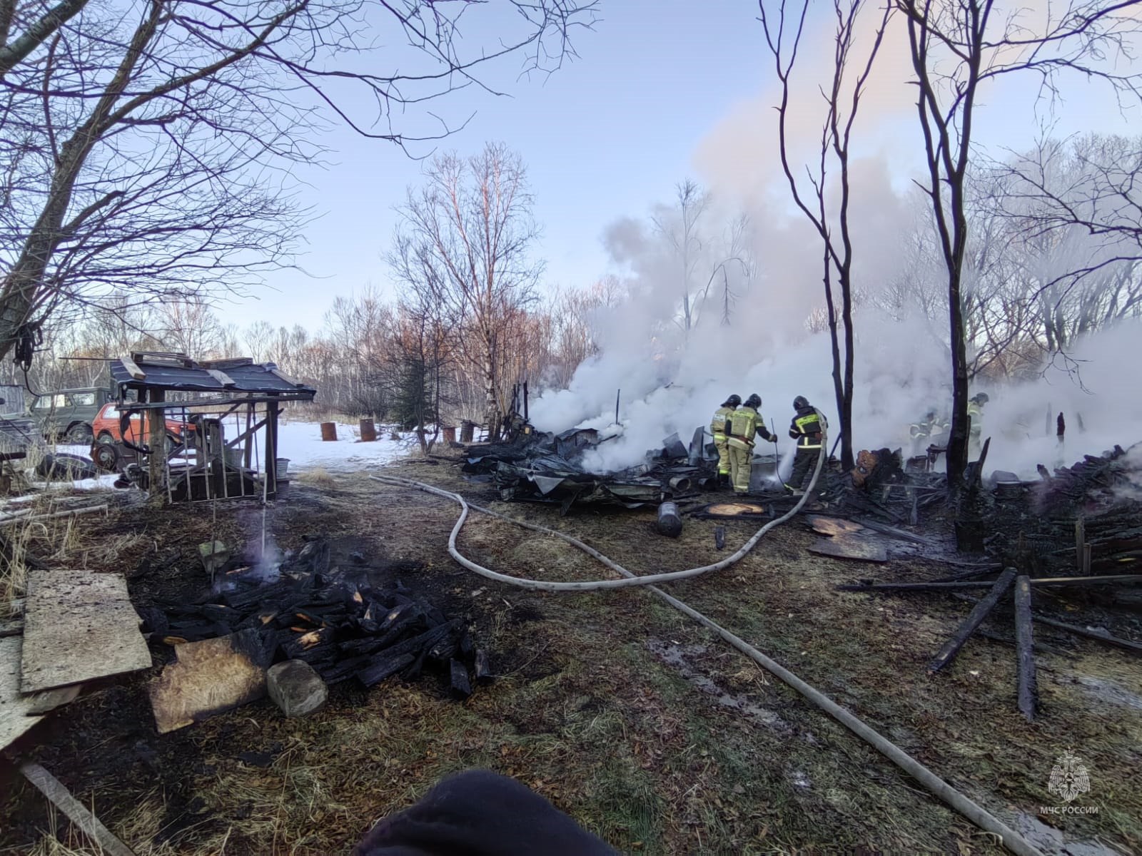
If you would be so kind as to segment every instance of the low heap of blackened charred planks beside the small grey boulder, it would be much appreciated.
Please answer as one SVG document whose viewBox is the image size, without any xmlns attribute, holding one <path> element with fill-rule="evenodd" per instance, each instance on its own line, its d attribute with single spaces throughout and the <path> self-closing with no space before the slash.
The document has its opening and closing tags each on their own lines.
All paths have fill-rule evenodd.
<svg viewBox="0 0 1142 856">
<path fill-rule="evenodd" d="M 373 686 L 391 676 L 442 673 L 452 694 L 472 693 L 472 675 L 490 678 L 460 619 L 449 619 L 400 581 L 352 586 L 329 572 L 329 544 L 308 541 L 279 567 L 232 559 L 198 603 L 156 600 L 143 615 L 167 645 L 256 631 L 270 662 L 303 660 L 329 684 L 355 677 Z"/>
</svg>

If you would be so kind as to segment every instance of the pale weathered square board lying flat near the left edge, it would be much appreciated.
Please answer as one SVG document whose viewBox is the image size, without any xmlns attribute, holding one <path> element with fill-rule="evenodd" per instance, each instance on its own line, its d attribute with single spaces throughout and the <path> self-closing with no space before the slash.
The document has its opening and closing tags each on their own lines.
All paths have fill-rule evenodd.
<svg viewBox="0 0 1142 856">
<path fill-rule="evenodd" d="M 25 693 L 151 668 L 119 574 L 31 571 L 19 685 Z"/>
</svg>

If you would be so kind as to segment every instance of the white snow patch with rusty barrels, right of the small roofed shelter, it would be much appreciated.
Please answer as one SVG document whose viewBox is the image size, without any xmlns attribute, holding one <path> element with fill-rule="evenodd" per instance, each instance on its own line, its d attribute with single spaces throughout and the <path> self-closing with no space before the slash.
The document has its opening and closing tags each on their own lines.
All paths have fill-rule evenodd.
<svg viewBox="0 0 1142 856">
<path fill-rule="evenodd" d="M 377 426 L 375 443 L 362 443 L 357 426 L 338 422 L 337 439 L 321 439 L 319 422 L 286 422 L 278 427 L 279 458 L 289 458 L 289 474 L 324 469 L 329 473 L 384 467 L 419 452 L 416 435 L 405 433 L 391 439 L 392 426 Z"/>
</svg>

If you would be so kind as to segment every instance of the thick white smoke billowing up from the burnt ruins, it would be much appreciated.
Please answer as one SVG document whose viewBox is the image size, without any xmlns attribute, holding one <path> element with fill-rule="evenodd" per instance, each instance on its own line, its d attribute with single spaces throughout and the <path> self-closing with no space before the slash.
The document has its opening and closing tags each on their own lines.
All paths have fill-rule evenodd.
<svg viewBox="0 0 1142 856">
<path fill-rule="evenodd" d="M 831 71 L 834 23 L 829 17 L 811 19 L 798 59 L 799 89 L 791 98 L 796 110 L 789 128 L 789 151 L 798 175 L 803 175 L 803 163 L 812 165 L 819 156 L 823 112 L 817 87 L 821 81 L 806 70 Z M 898 19 L 893 26 L 901 24 Z M 861 39 L 867 41 L 871 29 L 867 23 L 863 26 L 867 32 Z M 863 56 L 860 49 L 853 53 Z M 951 407 L 946 322 L 931 322 L 919 312 L 903 317 L 893 312 L 901 317 L 893 320 L 875 300 L 902 274 L 923 273 L 906 259 L 906 239 L 915 233 L 917 218 L 931 218 L 931 211 L 917 204 L 910 183 L 910 173 L 920 172 L 917 152 L 923 151 L 915 89 L 908 83 L 911 76 L 907 38 L 890 33 L 854 128 L 859 156 L 851 161 L 850 210 L 853 286 L 866 298 L 854 318 L 853 443 L 858 450 L 903 447 L 906 454 L 912 451 L 909 425 L 928 410 L 948 414 Z M 641 462 L 648 450 L 660 447 L 671 433 L 689 442 L 694 428 L 708 426 L 714 410 L 731 393 L 743 399 L 750 393 L 761 395 L 763 417 L 775 428 L 782 451 L 790 444 L 787 430 L 795 396 L 807 397 L 837 426 L 829 337 L 811 334 L 805 323 L 823 305 L 821 241 L 789 199 L 777 150 L 772 110 L 777 100 L 771 87 L 738 105 L 695 153 L 715 203 L 705 215 L 707 256 L 698 266 L 702 272 L 698 278 L 708 275 L 717 258 L 724 258 L 713 247 L 719 224 L 745 211 L 754 226 L 749 255 L 756 260 L 757 275 L 748 290 L 737 283 L 732 324 L 722 323 L 715 288 L 706 300 L 699 300 L 692 329 L 683 330 L 677 317 L 682 275 L 667 242 L 646 223 L 632 218 L 606 231 L 604 243 L 614 265 L 627 273 L 630 297 L 601 312 L 602 353 L 579 366 L 568 389 L 547 391 L 531 405 L 532 420 L 540 429 L 604 428 L 614 421 L 616 391 L 621 389 L 621 436 L 584 459 L 595 471 Z M 835 202 L 835 187 L 830 187 L 829 205 Z M 658 207 L 652 213 L 661 219 L 665 211 Z M 936 282 L 940 275 L 936 272 Z M 940 317 L 939 312 L 927 315 Z M 1131 321 L 1079 341 L 1071 350 L 1078 361 L 1071 368 L 1078 366 L 1081 385 L 1061 365 L 1048 368 L 1034 382 L 973 388 L 990 396 L 983 418 L 983 436 L 991 437 L 987 470 L 1013 470 L 1035 478 L 1037 463 L 1067 466 L 1085 453 L 1097 454 L 1115 444 L 1127 446 L 1142 437 L 1142 380 L 1128 356 L 1140 334 L 1142 324 Z M 1055 438 L 1060 411 L 1067 421 L 1062 444 Z M 1079 428 L 1079 415 L 1085 431 Z M 769 450 L 759 444 L 758 451 Z"/>
</svg>

